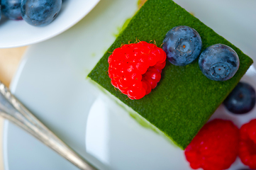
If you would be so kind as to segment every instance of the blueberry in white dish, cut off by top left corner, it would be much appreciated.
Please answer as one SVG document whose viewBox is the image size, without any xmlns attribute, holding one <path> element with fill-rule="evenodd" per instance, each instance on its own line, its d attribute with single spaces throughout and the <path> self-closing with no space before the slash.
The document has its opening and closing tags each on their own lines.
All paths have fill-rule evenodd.
<svg viewBox="0 0 256 170">
<path fill-rule="evenodd" d="M 22 20 L 21 0 L 1 0 L 1 11 L 11 20 Z"/>
</svg>

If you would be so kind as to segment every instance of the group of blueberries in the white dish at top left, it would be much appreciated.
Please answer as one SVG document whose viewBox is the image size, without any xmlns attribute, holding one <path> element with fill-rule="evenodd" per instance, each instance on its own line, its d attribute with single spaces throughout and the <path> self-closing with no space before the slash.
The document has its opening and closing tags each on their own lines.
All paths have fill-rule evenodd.
<svg viewBox="0 0 256 170">
<path fill-rule="evenodd" d="M 60 12 L 62 0 L 1 0 L 1 12 L 11 20 L 24 20 L 32 26 L 47 26 Z"/>
</svg>

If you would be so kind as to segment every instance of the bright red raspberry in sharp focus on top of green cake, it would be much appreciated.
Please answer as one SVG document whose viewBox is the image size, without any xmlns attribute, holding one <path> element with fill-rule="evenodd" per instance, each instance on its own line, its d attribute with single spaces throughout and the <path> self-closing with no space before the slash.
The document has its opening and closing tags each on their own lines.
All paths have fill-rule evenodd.
<svg viewBox="0 0 256 170">
<path fill-rule="evenodd" d="M 166 54 L 160 47 L 141 41 L 113 50 L 108 64 L 111 84 L 130 99 L 140 99 L 160 81 Z"/>
</svg>

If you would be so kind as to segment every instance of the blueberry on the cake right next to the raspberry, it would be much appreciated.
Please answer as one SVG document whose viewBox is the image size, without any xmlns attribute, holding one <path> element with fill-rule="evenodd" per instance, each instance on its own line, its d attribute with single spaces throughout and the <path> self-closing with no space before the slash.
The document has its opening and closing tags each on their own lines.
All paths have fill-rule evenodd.
<svg viewBox="0 0 256 170">
<path fill-rule="evenodd" d="M 177 26 L 168 31 L 162 49 L 174 65 L 187 65 L 199 56 L 202 41 L 199 33 L 188 26 Z"/>
</svg>

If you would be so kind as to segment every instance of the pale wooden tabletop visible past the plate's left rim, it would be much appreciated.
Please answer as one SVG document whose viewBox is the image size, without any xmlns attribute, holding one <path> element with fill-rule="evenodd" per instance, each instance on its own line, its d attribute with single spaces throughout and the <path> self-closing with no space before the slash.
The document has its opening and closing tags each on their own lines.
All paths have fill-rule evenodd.
<svg viewBox="0 0 256 170">
<path fill-rule="evenodd" d="M 9 86 L 25 50 L 26 47 L 0 49 L 0 81 L 6 86 Z M 4 120 L 0 117 L 0 170 L 4 170 L 3 123 Z"/>
</svg>

